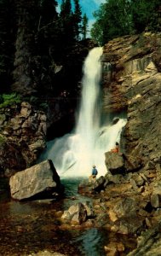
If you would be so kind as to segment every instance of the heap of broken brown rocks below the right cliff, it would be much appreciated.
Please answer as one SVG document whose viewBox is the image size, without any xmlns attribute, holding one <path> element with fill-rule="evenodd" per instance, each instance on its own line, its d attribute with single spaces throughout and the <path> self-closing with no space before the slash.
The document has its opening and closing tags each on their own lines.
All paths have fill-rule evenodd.
<svg viewBox="0 0 161 256">
<path fill-rule="evenodd" d="M 117 154 L 113 155 L 117 159 Z M 159 168 L 158 172 L 141 170 L 115 172 L 113 175 L 108 172 L 95 183 L 81 183 L 78 191 L 94 198 L 95 226 L 119 234 L 140 236 L 142 231 L 155 229 L 161 220 L 160 181 Z M 101 189 L 98 189 L 98 184 L 101 184 Z"/>
</svg>

